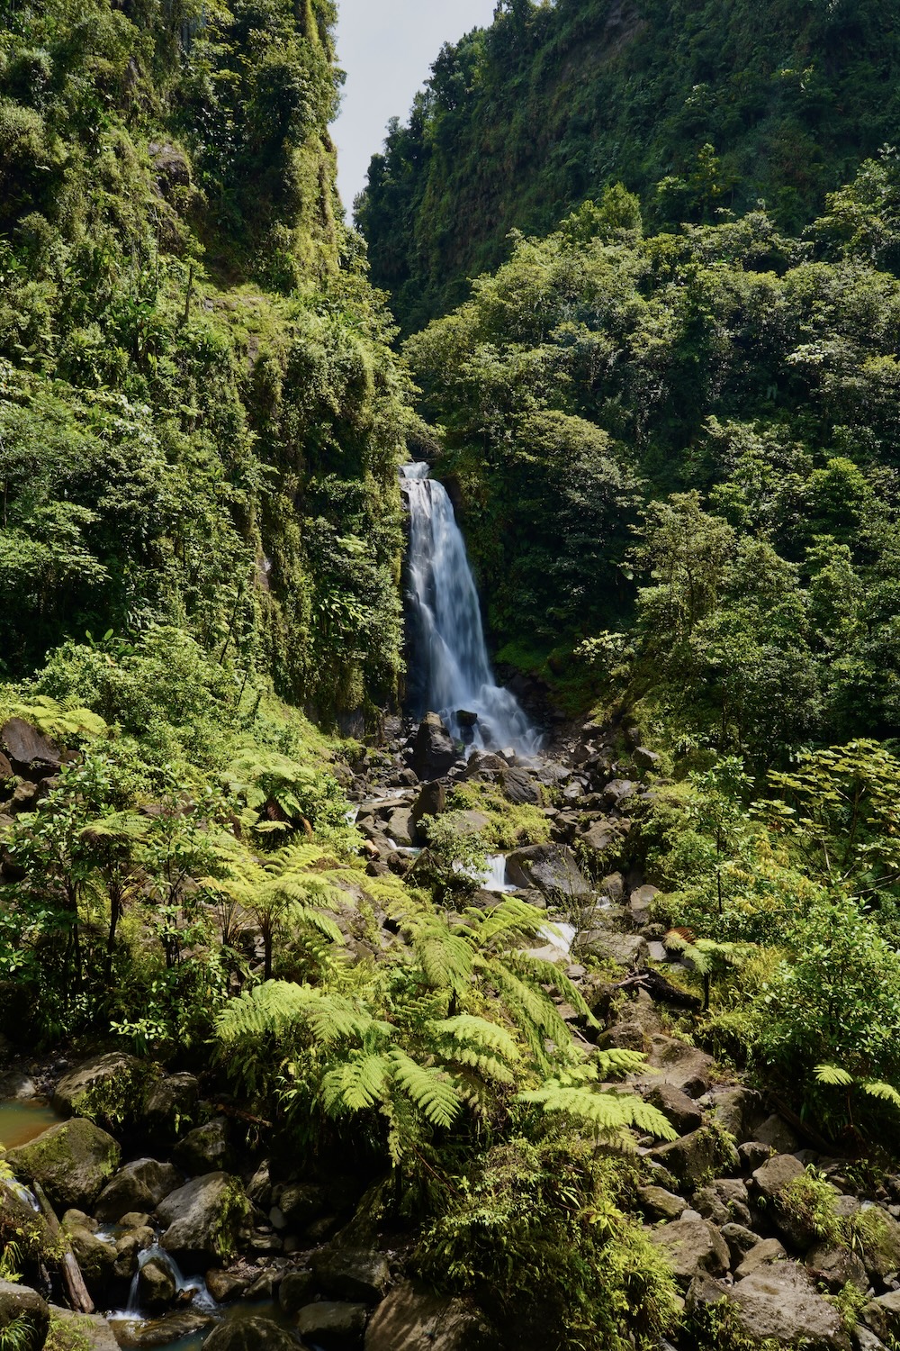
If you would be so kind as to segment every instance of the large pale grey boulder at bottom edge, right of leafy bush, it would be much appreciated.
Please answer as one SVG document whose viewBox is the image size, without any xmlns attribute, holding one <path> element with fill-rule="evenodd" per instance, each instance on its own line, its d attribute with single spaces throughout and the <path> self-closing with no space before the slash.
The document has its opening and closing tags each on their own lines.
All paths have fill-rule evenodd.
<svg viewBox="0 0 900 1351">
<path fill-rule="evenodd" d="M 795 1262 L 776 1262 L 725 1286 L 699 1275 L 688 1290 L 688 1312 L 727 1300 L 750 1342 L 766 1339 L 779 1347 L 804 1351 L 850 1351 L 841 1315 L 816 1290 L 808 1273 Z"/>
</svg>

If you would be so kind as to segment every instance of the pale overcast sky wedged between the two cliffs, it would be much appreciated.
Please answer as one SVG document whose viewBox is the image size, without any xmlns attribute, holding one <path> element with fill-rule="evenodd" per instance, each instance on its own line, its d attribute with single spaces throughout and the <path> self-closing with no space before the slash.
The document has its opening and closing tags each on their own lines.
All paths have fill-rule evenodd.
<svg viewBox="0 0 900 1351">
<path fill-rule="evenodd" d="M 332 131 L 349 216 L 389 119 L 406 120 L 441 45 L 488 24 L 494 0 L 339 0 L 339 8 L 337 61 L 347 84 Z"/>
</svg>

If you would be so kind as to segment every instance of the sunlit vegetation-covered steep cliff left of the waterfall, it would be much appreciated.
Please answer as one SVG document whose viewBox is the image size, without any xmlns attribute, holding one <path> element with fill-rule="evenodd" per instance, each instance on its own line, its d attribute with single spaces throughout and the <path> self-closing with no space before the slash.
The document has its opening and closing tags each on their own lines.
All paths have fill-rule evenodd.
<svg viewBox="0 0 900 1351">
<path fill-rule="evenodd" d="M 329 716 L 399 667 L 406 393 L 328 122 L 331 0 L 0 34 L 0 674 L 174 624 Z"/>
</svg>

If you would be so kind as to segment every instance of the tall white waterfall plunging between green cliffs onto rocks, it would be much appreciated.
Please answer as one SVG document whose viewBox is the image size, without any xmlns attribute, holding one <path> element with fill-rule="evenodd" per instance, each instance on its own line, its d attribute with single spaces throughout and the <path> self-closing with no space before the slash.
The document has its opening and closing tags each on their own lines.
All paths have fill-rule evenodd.
<svg viewBox="0 0 900 1351">
<path fill-rule="evenodd" d="M 409 611 L 417 671 L 414 712 L 441 715 L 452 735 L 482 750 L 533 755 L 540 736 L 518 700 L 494 681 L 466 543 L 443 484 L 424 462 L 402 469 L 409 497 Z M 475 713 L 463 725 L 460 712 Z"/>
</svg>

